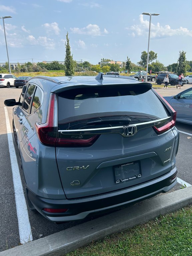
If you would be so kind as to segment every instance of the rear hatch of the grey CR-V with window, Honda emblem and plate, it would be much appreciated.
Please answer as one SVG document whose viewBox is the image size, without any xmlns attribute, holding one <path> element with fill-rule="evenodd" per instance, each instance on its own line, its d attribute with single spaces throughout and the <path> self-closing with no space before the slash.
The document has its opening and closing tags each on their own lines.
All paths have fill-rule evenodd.
<svg viewBox="0 0 192 256">
<path fill-rule="evenodd" d="M 148 83 L 60 92 L 56 159 L 68 199 L 121 190 L 172 168 L 175 113 Z"/>
</svg>

